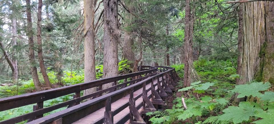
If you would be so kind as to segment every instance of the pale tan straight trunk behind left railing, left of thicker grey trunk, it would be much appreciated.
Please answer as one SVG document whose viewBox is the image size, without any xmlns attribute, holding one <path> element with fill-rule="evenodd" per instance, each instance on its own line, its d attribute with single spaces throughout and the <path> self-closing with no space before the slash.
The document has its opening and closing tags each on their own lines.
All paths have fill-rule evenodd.
<svg viewBox="0 0 274 124">
<path fill-rule="evenodd" d="M 96 2 L 96 1 L 95 1 Z M 94 33 L 94 0 L 84 0 L 84 82 L 96 80 L 95 71 L 95 33 Z M 96 91 L 90 88 L 84 91 L 84 95 Z"/>
</svg>

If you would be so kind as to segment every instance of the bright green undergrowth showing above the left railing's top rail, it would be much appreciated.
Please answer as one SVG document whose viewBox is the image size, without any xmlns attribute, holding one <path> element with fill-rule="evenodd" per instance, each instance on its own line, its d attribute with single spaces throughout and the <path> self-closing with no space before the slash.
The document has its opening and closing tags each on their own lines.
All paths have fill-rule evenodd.
<svg viewBox="0 0 274 124">
<path fill-rule="evenodd" d="M 132 69 L 130 68 L 130 65 L 128 65 L 127 60 L 122 60 L 118 63 L 118 71 L 119 74 L 128 74 L 132 72 Z M 68 86 L 73 84 L 79 84 L 84 82 L 84 69 L 79 69 L 76 71 L 69 71 L 65 70 L 63 71 L 63 76 L 61 77 L 62 85 L 60 85 L 57 78 L 57 72 L 50 71 L 47 73 L 49 76 L 49 80 L 51 84 L 54 87 L 60 87 L 60 86 Z M 100 79 L 103 76 L 103 65 L 96 66 L 96 79 Z M 42 85 L 44 83 L 43 76 L 41 73 L 39 73 L 39 79 Z M 3 82 L 9 82 L 6 83 L 6 86 L 0 85 L 0 98 L 4 97 L 11 97 L 15 95 L 21 95 L 29 92 L 35 92 L 35 87 L 33 84 L 33 80 L 21 80 L 19 79 L 16 82 L 13 82 L 11 80 L 4 80 Z M 120 81 L 122 82 L 122 81 Z"/>
</svg>

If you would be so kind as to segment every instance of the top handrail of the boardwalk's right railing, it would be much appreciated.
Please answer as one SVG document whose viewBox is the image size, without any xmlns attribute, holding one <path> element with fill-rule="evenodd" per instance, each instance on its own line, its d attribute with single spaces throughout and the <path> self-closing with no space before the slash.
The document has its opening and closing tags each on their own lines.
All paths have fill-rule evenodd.
<svg viewBox="0 0 274 124">
<path fill-rule="evenodd" d="M 163 66 L 164 67 L 164 66 Z M 48 116 L 45 116 L 45 117 L 42 117 L 42 118 L 39 118 L 39 119 L 36 119 L 36 120 L 33 120 L 31 122 L 28 122 L 27 124 L 47 124 L 47 123 L 51 123 L 52 121 L 55 121 L 57 119 L 60 119 L 62 117 L 65 117 L 67 115 L 70 115 L 72 113 L 75 113 L 79 110 L 82 110 L 82 109 L 85 109 L 87 107 L 90 107 L 92 105 L 95 105 L 96 103 L 99 103 L 99 102 L 102 102 L 106 99 L 108 99 L 108 97 L 115 97 L 116 95 L 119 95 L 123 92 L 127 92 L 127 91 L 130 91 L 134 88 L 136 88 L 137 86 L 140 86 L 142 85 L 143 83 L 146 83 L 146 82 L 149 82 L 151 81 L 153 78 L 156 78 L 156 77 L 161 77 L 163 76 L 164 74 L 166 73 L 170 73 L 174 71 L 174 68 L 171 68 L 171 69 L 168 69 L 167 71 L 165 72 L 161 72 L 161 73 L 158 73 L 154 76 L 151 76 L 149 78 L 146 78 L 140 82 L 136 82 L 135 84 L 132 84 L 130 86 L 127 86 L 125 88 L 122 88 L 122 89 L 119 89 L 119 90 L 116 90 L 114 92 L 111 92 L 111 93 L 108 93 L 106 95 L 103 95 L 103 96 L 100 96 L 100 97 L 97 97 L 95 99 L 92 99 L 90 101 L 87 101 L 87 102 L 84 102 L 84 103 L 81 103 L 79 105 L 76 105 L 76 106 L 73 106 L 73 107 L 70 107 L 68 109 L 65 109 L 65 110 L 62 110 L 62 111 L 59 111 L 57 113 L 53 113 L 51 115 L 48 115 Z"/>
</svg>

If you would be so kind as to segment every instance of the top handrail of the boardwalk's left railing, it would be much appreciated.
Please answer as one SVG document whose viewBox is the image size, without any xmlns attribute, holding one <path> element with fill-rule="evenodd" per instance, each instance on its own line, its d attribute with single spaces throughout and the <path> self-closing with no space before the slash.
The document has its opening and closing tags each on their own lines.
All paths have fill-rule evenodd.
<svg viewBox="0 0 274 124">
<path fill-rule="evenodd" d="M 144 71 L 134 72 L 130 74 L 123 74 L 123 75 L 109 77 L 109 78 L 92 80 L 89 82 L 83 82 L 83 83 L 74 84 L 70 86 L 63 86 L 60 88 L 54 88 L 54 89 L 49 89 L 49 90 L 44 90 L 39 92 L 33 92 L 33 93 L 27 93 L 27 94 L 18 95 L 18 96 L 2 98 L 0 99 L 0 106 L 2 106 L 0 107 L 0 111 L 5 111 L 5 110 L 17 108 L 17 107 L 22 107 L 25 105 L 30 105 L 33 103 L 46 101 L 49 99 L 54 99 L 54 98 L 68 95 L 74 92 L 79 92 L 92 87 L 100 86 L 102 84 L 115 82 L 125 78 L 130 78 L 130 77 L 138 76 L 141 74 L 147 74 L 154 71 L 157 71 L 157 68 L 152 67 L 152 69 L 150 70 L 144 70 Z"/>
</svg>

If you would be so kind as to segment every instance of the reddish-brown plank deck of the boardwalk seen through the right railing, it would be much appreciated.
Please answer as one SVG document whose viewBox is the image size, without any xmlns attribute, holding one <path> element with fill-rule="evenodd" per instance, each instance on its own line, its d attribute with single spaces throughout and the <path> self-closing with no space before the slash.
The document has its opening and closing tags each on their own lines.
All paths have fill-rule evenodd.
<svg viewBox="0 0 274 124">
<path fill-rule="evenodd" d="M 162 80 L 162 78 L 160 78 Z M 157 79 L 153 81 L 153 84 L 157 84 Z M 151 87 L 151 83 L 146 85 L 146 89 Z M 157 86 L 155 87 L 157 89 Z M 135 91 L 133 93 L 133 97 L 137 97 L 138 95 L 142 94 L 143 88 L 140 88 L 139 90 Z M 151 90 L 148 92 L 148 96 L 151 94 Z M 123 97 L 122 99 L 119 99 L 118 101 L 115 101 L 114 103 L 111 103 L 111 110 L 118 109 L 121 105 L 127 103 L 129 101 L 130 95 L 127 95 L 126 97 Z M 143 102 L 142 97 L 137 99 L 135 101 L 135 105 L 139 105 L 140 103 Z M 141 108 L 142 109 L 142 108 Z M 78 121 L 74 122 L 73 124 L 92 124 L 94 121 L 104 118 L 104 112 L 105 112 L 105 107 L 99 109 L 98 111 L 91 113 L 87 115 L 86 117 L 79 119 Z M 126 107 L 124 110 L 119 112 L 117 115 L 113 117 L 114 123 L 117 123 L 118 120 L 120 120 L 122 117 L 126 116 L 129 113 L 129 107 Z"/>
</svg>

